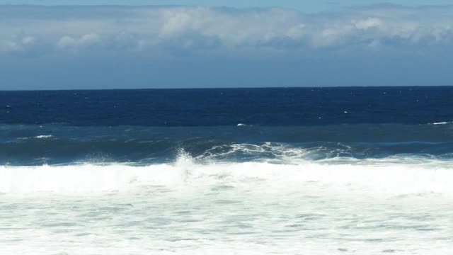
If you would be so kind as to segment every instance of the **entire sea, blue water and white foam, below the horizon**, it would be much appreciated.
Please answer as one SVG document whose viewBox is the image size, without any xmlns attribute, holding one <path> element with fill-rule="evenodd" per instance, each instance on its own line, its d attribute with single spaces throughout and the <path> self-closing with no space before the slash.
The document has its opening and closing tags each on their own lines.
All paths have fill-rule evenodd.
<svg viewBox="0 0 453 255">
<path fill-rule="evenodd" d="M 0 254 L 453 254 L 453 87 L 0 91 Z"/>
</svg>

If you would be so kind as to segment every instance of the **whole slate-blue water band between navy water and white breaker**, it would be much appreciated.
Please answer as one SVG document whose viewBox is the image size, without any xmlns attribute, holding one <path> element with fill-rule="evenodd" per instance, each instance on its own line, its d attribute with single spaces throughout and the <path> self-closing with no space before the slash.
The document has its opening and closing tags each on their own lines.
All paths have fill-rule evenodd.
<svg viewBox="0 0 453 255">
<path fill-rule="evenodd" d="M 0 128 L 0 164 L 4 165 L 168 163 L 180 149 L 197 159 L 229 162 L 401 155 L 449 159 L 453 156 L 453 125 Z"/>
</svg>

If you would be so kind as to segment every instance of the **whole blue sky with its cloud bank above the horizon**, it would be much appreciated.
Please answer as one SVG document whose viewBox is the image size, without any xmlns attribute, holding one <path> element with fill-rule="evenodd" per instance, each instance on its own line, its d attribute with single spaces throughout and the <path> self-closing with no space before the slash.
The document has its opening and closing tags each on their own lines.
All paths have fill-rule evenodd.
<svg viewBox="0 0 453 255">
<path fill-rule="evenodd" d="M 0 90 L 453 85 L 453 0 L 0 0 Z"/>
</svg>

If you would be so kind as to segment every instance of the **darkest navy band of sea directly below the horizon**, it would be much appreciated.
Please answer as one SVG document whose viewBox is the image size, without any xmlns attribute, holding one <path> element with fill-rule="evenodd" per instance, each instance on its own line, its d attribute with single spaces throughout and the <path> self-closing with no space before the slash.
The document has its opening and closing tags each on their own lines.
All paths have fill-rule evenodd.
<svg viewBox="0 0 453 255">
<path fill-rule="evenodd" d="M 436 123 L 453 87 L 3 91 L 0 123 L 219 126 Z"/>
</svg>

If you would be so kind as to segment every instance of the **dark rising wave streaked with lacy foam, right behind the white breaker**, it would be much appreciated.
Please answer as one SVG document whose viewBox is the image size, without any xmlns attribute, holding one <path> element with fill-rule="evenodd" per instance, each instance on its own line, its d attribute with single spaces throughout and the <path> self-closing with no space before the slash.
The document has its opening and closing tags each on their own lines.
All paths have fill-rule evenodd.
<svg viewBox="0 0 453 255">
<path fill-rule="evenodd" d="M 228 162 L 287 162 L 334 158 L 382 159 L 401 155 L 450 159 L 452 142 L 224 142 L 194 138 L 189 140 L 67 140 L 46 138 L 26 142 L 0 143 L 0 164 L 40 165 L 127 162 L 156 164 L 172 162 L 184 149 L 199 160 Z"/>
</svg>

